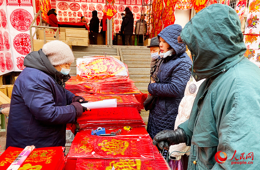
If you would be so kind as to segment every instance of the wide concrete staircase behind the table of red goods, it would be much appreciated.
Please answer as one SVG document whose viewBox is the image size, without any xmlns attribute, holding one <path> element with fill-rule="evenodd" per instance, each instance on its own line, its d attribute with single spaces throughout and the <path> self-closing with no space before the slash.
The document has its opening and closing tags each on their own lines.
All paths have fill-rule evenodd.
<svg viewBox="0 0 260 170">
<path fill-rule="evenodd" d="M 114 46 L 106 45 L 89 45 L 88 47 L 73 46 L 72 48 L 75 58 L 81 58 L 88 55 L 117 55 L 121 61 L 127 64 L 129 77 L 135 81 L 136 87 L 142 93 L 148 93 L 148 84 L 150 82 L 150 49 L 145 46 Z M 76 60 L 71 64 L 71 76 L 76 76 Z M 145 123 L 148 122 L 149 112 L 141 111 L 141 116 Z"/>
</svg>

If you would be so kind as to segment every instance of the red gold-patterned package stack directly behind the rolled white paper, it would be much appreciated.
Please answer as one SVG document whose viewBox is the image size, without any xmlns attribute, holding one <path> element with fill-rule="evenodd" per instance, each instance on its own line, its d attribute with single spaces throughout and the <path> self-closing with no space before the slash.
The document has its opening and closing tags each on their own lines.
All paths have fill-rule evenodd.
<svg viewBox="0 0 260 170">
<path fill-rule="evenodd" d="M 133 95 L 90 95 L 87 93 L 78 93 L 77 96 L 82 96 L 87 101 L 96 102 L 106 99 L 116 99 L 117 107 L 136 107 L 141 112 L 141 103 L 139 103 Z"/>
</svg>

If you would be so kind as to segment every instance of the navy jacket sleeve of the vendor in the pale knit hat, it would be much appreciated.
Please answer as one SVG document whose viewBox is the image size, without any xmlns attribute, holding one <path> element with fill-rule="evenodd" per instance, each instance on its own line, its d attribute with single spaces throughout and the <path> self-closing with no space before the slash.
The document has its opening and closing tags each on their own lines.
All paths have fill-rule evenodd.
<svg viewBox="0 0 260 170">
<path fill-rule="evenodd" d="M 47 85 L 33 83 L 23 90 L 21 97 L 35 119 L 44 124 L 67 124 L 75 119 L 74 106 L 55 106 L 52 91 Z"/>
</svg>

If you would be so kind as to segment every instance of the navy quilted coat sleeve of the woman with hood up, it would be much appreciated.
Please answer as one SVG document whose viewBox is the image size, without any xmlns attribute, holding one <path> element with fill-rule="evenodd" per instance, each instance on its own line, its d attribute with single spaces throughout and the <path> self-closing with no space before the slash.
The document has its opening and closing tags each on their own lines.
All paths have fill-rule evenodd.
<svg viewBox="0 0 260 170">
<path fill-rule="evenodd" d="M 159 97 L 179 97 L 183 95 L 186 84 L 190 79 L 190 64 L 186 60 L 179 60 L 172 72 L 171 82 L 169 84 L 150 83 L 148 92 Z"/>
</svg>

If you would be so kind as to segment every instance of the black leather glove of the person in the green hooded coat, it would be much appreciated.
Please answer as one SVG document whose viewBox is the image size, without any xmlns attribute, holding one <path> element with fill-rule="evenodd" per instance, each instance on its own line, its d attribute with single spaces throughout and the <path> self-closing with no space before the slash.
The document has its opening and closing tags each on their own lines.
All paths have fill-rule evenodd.
<svg viewBox="0 0 260 170">
<path fill-rule="evenodd" d="M 154 136 L 153 145 L 169 150 L 169 146 L 185 143 L 187 137 L 181 128 L 176 130 L 163 130 Z"/>
</svg>

